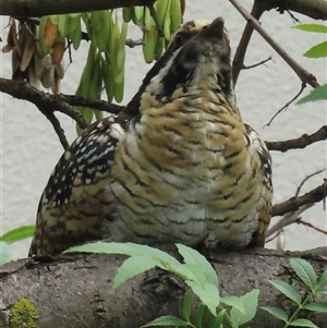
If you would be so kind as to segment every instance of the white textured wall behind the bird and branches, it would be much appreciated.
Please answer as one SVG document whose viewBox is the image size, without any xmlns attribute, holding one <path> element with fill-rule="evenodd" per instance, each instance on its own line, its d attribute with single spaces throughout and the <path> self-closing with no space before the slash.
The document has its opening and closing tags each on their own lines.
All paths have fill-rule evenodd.
<svg viewBox="0 0 327 328">
<path fill-rule="evenodd" d="M 199 4 L 201 3 L 201 4 Z M 217 4 L 214 4 L 217 3 Z M 251 0 L 242 1 L 251 9 Z M 245 21 L 228 1 L 187 1 L 185 21 L 194 19 L 215 19 L 222 15 L 230 33 L 233 51 L 240 39 Z M 310 22 L 305 16 L 298 15 L 301 22 Z M 3 17 L 1 26 L 8 19 Z M 265 13 L 262 19 L 264 28 L 302 64 L 316 75 L 320 83 L 326 82 L 326 60 L 302 57 L 310 47 L 324 40 L 324 35 L 299 32 L 291 28 L 293 22 L 286 13 L 276 11 Z M 7 31 L 1 28 L 1 37 L 5 39 Z M 130 26 L 129 37 L 137 39 L 141 32 Z M 73 94 L 80 80 L 82 65 L 87 49 L 73 53 L 73 63 L 68 68 L 62 82 L 62 92 Z M 277 117 L 270 127 L 265 123 L 271 116 L 289 101 L 300 89 L 301 82 L 281 58 L 267 45 L 259 35 L 254 33 L 245 64 L 259 62 L 272 54 L 272 61 L 256 69 L 243 71 L 238 82 L 237 96 L 239 107 L 245 122 L 259 132 L 265 139 L 281 141 L 293 138 L 303 133 L 313 133 L 326 123 L 326 102 L 304 106 L 291 105 L 288 110 Z M 144 63 L 140 48 L 128 49 L 126 54 L 126 92 L 125 104 L 137 90 L 142 78 L 150 66 Z M 11 56 L 1 54 L 1 76 L 11 76 Z M 311 87 L 305 89 L 308 93 Z M 31 104 L 13 99 L 8 95 L 1 98 L 1 219 L 2 232 L 35 222 L 35 214 L 39 196 L 47 180 L 58 161 L 62 147 L 47 119 Z M 69 141 L 75 137 L 74 122 L 58 114 Z M 304 150 L 291 150 L 287 154 L 272 153 L 275 202 L 282 202 L 292 195 L 299 183 L 307 175 L 326 168 L 326 143 L 320 142 Z M 311 179 L 303 192 L 320 184 L 322 173 Z M 303 219 L 322 228 L 326 228 L 326 212 L 323 204 L 315 205 L 303 214 Z M 272 223 L 278 218 L 272 219 Z M 288 250 L 305 250 L 326 245 L 326 236 L 303 226 L 292 224 L 286 228 Z M 13 256 L 24 257 L 31 241 L 13 244 Z M 275 247 L 275 242 L 268 245 Z"/>
</svg>

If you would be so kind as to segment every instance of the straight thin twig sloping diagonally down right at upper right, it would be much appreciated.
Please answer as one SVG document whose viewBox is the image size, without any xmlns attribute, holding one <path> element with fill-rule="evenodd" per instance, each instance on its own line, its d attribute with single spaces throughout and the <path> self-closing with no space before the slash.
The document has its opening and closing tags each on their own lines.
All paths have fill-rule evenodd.
<svg viewBox="0 0 327 328">
<path fill-rule="evenodd" d="M 258 34 L 275 49 L 275 51 L 288 63 L 288 65 L 295 72 L 295 74 L 300 77 L 303 83 L 310 84 L 312 87 L 317 87 L 319 84 L 317 83 L 316 77 L 303 69 L 299 63 L 296 63 L 271 37 L 270 35 L 262 27 L 259 22 L 255 19 L 254 15 L 250 14 L 238 0 L 229 0 L 234 8 L 243 15 L 243 17 L 247 21 L 247 25 L 251 24 L 252 27 L 258 32 Z M 254 2 L 253 10 L 255 9 L 256 1 Z M 258 13 L 263 12 L 263 8 L 258 8 L 256 10 Z M 247 27 L 246 25 L 246 27 Z M 244 31 L 245 33 L 245 31 Z M 234 74 L 234 72 L 233 72 Z M 235 78 L 235 77 L 234 77 Z"/>
</svg>

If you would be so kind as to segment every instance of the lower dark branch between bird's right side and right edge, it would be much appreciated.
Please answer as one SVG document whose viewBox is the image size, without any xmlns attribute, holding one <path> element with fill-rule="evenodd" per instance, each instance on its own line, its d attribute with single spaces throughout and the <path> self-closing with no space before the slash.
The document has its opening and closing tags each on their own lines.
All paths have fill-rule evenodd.
<svg viewBox="0 0 327 328">
<path fill-rule="evenodd" d="M 283 203 L 274 205 L 272 216 L 282 216 L 289 211 L 298 210 L 303 205 L 320 202 L 326 198 L 326 194 L 327 186 L 326 182 L 324 182 L 322 185 L 302 196 L 291 197 Z"/>
</svg>

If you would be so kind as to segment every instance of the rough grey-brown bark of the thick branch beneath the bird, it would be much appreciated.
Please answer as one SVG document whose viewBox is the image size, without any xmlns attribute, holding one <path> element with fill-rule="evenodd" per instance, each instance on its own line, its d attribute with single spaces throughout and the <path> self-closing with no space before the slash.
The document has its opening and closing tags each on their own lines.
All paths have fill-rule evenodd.
<svg viewBox="0 0 327 328">
<path fill-rule="evenodd" d="M 320 276 L 326 266 L 327 247 L 318 251 L 317 257 L 311 252 L 303 256 Z M 287 313 L 293 311 L 293 304 L 268 283 L 268 279 L 278 277 L 303 290 L 290 269 L 292 254 L 270 250 L 246 253 L 215 251 L 206 254 L 218 272 L 221 294 L 242 295 L 258 288 L 259 307 L 251 327 L 283 327 L 283 323 L 261 306 L 282 306 Z M 111 294 L 110 287 L 123 260 L 124 257 L 112 255 L 73 255 L 57 257 L 50 264 L 21 259 L 2 266 L 1 327 L 8 327 L 13 304 L 22 299 L 31 301 L 39 313 L 35 323 L 38 328 L 136 328 L 161 315 L 181 316 L 185 284 L 161 270 L 138 275 Z M 326 295 L 320 301 L 325 300 Z M 310 312 L 304 315 L 318 327 L 324 327 L 327 321 L 327 314 Z"/>
</svg>

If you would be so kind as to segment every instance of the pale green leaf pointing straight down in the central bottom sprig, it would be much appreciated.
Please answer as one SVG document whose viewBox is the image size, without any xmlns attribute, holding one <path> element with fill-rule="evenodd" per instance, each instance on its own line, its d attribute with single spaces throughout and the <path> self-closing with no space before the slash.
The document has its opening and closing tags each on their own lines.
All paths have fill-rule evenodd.
<svg viewBox="0 0 327 328">
<path fill-rule="evenodd" d="M 198 286 L 195 281 L 185 280 L 193 292 L 198 296 L 203 304 L 208 306 L 208 309 L 214 316 L 216 316 L 216 308 L 220 303 L 218 288 L 209 282 L 206 282 L 203 287 Z"/>
</svg>

